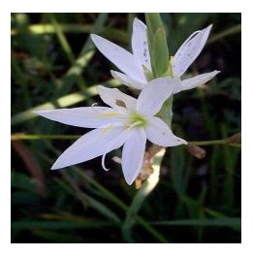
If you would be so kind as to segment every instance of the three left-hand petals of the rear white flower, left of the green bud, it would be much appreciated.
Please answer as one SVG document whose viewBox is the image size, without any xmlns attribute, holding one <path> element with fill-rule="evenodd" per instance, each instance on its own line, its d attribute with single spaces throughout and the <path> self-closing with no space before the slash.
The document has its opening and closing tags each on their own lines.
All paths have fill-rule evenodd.
<svg viewBox="0 0 253 256">
<path fill-rule="evenodd" d="M 134 19 L 132 34 L 133 54 L 124 48 L 111 43 L 97 35 L 91 35 L 96 47 L 118 67 L 124 74 L 111 71 L 112 77 L 121 80 L 123 84 L 142 89 L 147 83 L 144 69 L 151 72 L 150 56 L 146 39 L 146 26 L 138 18 Z M 144 68 L 143 68 L 144 66 Z"/>
</svg>

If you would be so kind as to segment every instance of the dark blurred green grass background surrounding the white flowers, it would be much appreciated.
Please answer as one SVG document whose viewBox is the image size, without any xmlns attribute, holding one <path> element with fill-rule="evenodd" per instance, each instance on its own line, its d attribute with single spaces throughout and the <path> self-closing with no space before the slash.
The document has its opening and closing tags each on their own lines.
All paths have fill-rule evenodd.
<svg viewBox="0 0 253 256">
<path fill-rule="evenodd" d="M 132 20 L 143 14 L 12 14 L 12 133 L 81 135 L 35 109 L 101 103 L 95 85 L 119 86 L 113 67 L 91 44 L 100 34 L 129 48 Z M 240 132 L 240 14 L 162 14 L 170 52 L 212 23 L 190 73 L 214 69 L 208 85 L 174 96 L 175 134 L 187 141 Z M 126 87 L 120 86 L 126 91 Z M 234 136 L 231 143 L 237 144 Z M 61 171 L 50 166 L 70 140 L 12 142 L 12 242 L 240 242 L 240 147 L 168 148 L 159 184 L 131 215 L 134 186 L 120 166 L 94 159 Z M 118 151 L 110 154 L 118 155 Z M 132 219 L 131 219 L 132 218 Z M 130 221 L 128 236 L 124 223 Z"/>
</svg>

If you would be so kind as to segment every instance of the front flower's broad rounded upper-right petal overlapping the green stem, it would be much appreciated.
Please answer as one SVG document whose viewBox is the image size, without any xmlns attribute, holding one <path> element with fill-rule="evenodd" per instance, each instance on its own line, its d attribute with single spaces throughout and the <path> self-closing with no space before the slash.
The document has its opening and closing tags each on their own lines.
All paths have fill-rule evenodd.
<svg viewBox="0 0 253 256">
<path fill-rule="evenodd" d="M 171 78 L 159 78 L 145 84 L 137 100 L 137 111 L 148 116 L 159 112 L 177 83 Z"/>
</svg>

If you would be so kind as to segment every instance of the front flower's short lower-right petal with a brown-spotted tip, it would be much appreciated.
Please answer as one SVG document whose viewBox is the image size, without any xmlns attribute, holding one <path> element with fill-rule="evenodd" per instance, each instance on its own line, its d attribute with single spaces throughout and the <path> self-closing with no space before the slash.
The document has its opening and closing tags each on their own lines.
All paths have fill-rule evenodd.
<svg viewBox="0 0 253 256">
<path fill-rule="evenodd" d="M 162 146 L 187 144 L 181 138 L 174 136 L 171 128 L 162 119 L 155 116 L 149 118 L 145 131 L 147 140 L 153 144 Z"/>
</svg>

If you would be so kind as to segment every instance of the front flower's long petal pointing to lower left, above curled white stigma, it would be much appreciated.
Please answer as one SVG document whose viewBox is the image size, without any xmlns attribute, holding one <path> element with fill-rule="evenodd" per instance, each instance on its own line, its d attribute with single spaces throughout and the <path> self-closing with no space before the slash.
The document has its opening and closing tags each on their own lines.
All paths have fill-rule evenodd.
<svg viewBox="0 0 253 256">
<path fill-rule="evenodd" d="M 125 129 L 123 128 L 113 127 L 111 129 L 95 129 L 83 135 L 75 144 L 72 144 L 60 155 L 51 169 L 55 170 L 76 165 L 103 155 L 105 152 L 108 152 L 107 148 L 111 141 L 121 136 L 124 132 Z M 123 143 L 121 141 L 121 144 L 118 143 L 117 147 Z M 117 147 L 114 146 L 112 149 Z"/>
</svg>

